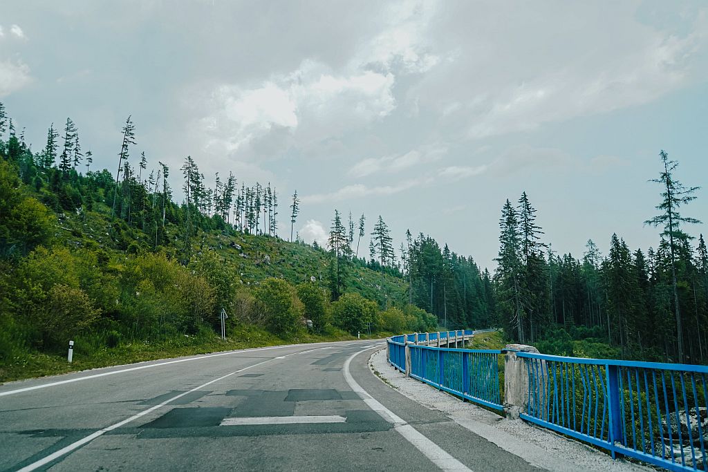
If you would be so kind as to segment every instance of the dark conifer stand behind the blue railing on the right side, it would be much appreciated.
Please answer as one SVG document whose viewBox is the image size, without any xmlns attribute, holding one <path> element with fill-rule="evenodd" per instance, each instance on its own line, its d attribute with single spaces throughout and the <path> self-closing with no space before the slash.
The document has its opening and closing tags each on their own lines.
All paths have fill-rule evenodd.
<svg viewBox="0 0 708 472">
<path fill-rule="evenodd" d="M 493 277 L 498 322 L 520 343 L 589 337 L 630 359 L 705 362 L 708 357 L 708 257 L 679 212 L 697 187 L 676 179 L 678 162 L 659 154 L 658 214 L 645 224 L 661 229 L 656 248 L 632 251 L 617 234 L 603 257 L 589 240 L 581 259 L 559 255 L 543 242 L 525 192 L 503 205 L 498 267 Z M 695 241 L 695 243 L 694 243 Z M 559 347 L 567 352 L 568 347 Z"/>
</svg>

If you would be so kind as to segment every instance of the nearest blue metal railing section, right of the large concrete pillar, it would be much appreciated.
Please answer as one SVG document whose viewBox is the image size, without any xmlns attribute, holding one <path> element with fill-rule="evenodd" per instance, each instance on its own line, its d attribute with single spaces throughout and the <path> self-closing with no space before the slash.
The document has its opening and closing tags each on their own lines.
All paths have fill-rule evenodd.
<svg viewBox="0 0 708 472">
<path fill-rule="evenodd" d="M 708 471 L 708 367 L 519 352 L 524 420 L 672 471 Z"/>
</svg>

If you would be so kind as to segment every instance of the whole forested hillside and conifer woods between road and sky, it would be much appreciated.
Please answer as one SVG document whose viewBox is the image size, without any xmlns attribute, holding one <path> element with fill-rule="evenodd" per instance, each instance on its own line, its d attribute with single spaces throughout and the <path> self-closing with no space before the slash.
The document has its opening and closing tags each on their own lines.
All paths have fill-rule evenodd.
<svg viewBox="0 0 708 472">
<path fill-rule="evenodd" d="M 654 246 L 607 234 L 606 254 L 592 240 L 564 253 L 542 227 L 554 209 L 520 188 L 494 203 L 498 256 L 486 268 L 415 228 L 392 234 L 386 215 L 355 202 L 332 208 L 326 245 L 309 244 L 297 190 L 229 169 L 207 179 L 196 156 L 169 168 L 141 150 L 133 117 L 115 130 L 112 168 L 96 168 L 80 129 L 50 123 L 31 149 L 0 104 L 0 380 L 69 338 L 86 352 L 215 338 L 222 309 L 236 338 L 503 328 L 548 354 L 708 361 L 699 188 L 668 151 L 646 184 Z"/>
</svg>

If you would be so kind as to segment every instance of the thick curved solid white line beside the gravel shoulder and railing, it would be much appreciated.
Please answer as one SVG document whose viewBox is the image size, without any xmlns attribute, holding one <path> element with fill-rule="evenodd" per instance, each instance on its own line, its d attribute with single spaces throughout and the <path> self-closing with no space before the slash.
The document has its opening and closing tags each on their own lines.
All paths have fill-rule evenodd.
<svg viewBox="0 0 708 472">
<path fill-rule="evenodd" d="M 418 449 L 418 451 L 421 451 L 428 459 L 430 459 L 431 462 L 433 462 L 433 464 L 438 466 L 440 470 L 472 472 L 469 468 L 467 468 L 467 466 L 462 464 L 462 462 L 458 461 L 457 459 L 455 459 L 455 457 L 447 453 L 445 449 L 442 449 L 442 447 L 438 446 L 438 444 L 435 444 L 434 442 L 430 441 L 430 439 L 421 434 L 421 432 L 418 432 L 416 428 L 409 425 L 408 422 L 406 422 L 403 418 L 399 417 L 398 415 L 396 415 L 396 413 L 392 412 L 384 405 L 379 403 L 379 401 L 377 401 L 375 398 L 370 396 L 369 393 L 367 393 L 357 383 L 357 381 L 354 380 L 354 377 L 349 372 L 349 364 L 351 364 L 352 359 L 354 359 L 354 357 L 360 355 L 362 352 L 365 351 L 366 349 L 360 350 L 359 352 L 350 355 L 346 362 L 344 362 L 344 379 L 347 381 L 347 384 L 349 384 L 350 388 L 355 391 L 358 396 L 361 397 L 361 399 L 369 406 L 369 408 L 378 413 L 381 418 L 384 418 L 384 420 L 387 420 L 389 423 L 394 425 L 394 430 L 398 431 L 401 436 L 406 439 L 406 441 L 413 444 L 413 447 Z"/>
</svg>

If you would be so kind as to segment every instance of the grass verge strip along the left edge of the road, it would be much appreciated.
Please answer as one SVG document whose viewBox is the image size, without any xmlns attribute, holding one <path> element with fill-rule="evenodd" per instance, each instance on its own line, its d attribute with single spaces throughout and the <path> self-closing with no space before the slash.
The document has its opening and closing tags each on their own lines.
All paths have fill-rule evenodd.
<svg viewBox="0 0 708 472">
<path fill-rule="evenodd" d="M 362 335 L 362 339 L 377 338 L 380 338 L 377 334 Z M 81 341 L 77 341 L 72 364 L 67 362 L 65 354 L 29 352 L 15 357 L 11 362 L 0 366 L 0 384 L 14 380 L 97 369 L 99 367 L 207 354 L 210 352 L 355 339 L 356 336 L 336 329 L 323 335 L 302 332 L 291 338 L 283 339 L 256 326 L 241 325 L 229 330 L 229 336 L 226 340 L 209 333 L 193 336 L 177 335 L 159 342 L 136 341 L 121 343 L 116 347 L 104 346 L 98 348 L 81 345 Z"/>
</svg>

